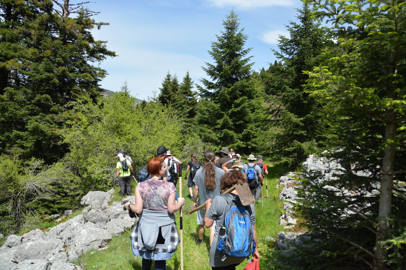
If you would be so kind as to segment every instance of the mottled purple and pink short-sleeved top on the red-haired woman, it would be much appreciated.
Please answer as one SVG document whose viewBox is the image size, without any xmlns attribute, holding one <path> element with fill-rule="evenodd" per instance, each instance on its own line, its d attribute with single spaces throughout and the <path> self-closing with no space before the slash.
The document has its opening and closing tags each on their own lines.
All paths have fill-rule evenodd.
<svg viewBox="0 0 406 270">
<path fill-rule="evenodd" d="M 138 190 L 143 198 L 143 208 L 155 211 L 168 210 L 169 195 L 176 191 L 171 182 L 148 179 L 138 183 Z"/>
</svg>

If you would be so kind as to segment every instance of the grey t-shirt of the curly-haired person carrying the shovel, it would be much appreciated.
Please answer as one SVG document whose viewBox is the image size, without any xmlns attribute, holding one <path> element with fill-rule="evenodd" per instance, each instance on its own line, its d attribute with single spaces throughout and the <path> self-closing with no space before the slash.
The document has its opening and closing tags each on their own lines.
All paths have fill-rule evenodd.
<svg viewBox="0 0 406 270">
<path fill-rule="evenodd" d="M 238 196 L 233 193 L 231 193 L 233 196 Z M 253 204 L 246 206 L 248 212 L 251 215 L 251 223 L 254 226 L 255 221 L 256 221 L 256 214 L 255 214 L 255 207 Z M 224 257 L 225 253 L 222 253 L 217 250 L 218 246 L 218 232 L 220 231 L 220 228 L 224 226 L 224 219 L 225 216 L 228 214 L 226 213 L 227 210 L 227 201 L 224 197 L 222 196 L 217 196 L 213 199 L 213 202 L 207 211 L 206 216 L 209 219 L 214 219 L 216 220 L 216 230 L 214 231 L 214 239 L 212 246 L 210 248 L 209 252 L 209 264 L 210 266 L 213 267 L 220 267 L 220 266 L 227 266 L 230 264 L 240 264 L 244 261 L 245 258 L 240 258 L 240 257 L 232 257 L 232 256 L 227 256 L 224 261 L 222 261 L 222 258 Z"/>
</svg>

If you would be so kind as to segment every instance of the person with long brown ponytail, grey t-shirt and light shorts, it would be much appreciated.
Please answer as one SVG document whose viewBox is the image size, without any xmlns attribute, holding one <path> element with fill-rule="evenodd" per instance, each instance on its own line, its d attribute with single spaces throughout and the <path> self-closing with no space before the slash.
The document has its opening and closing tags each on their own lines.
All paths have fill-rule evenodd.
<svg viewBox="0 0 406 270">
<path fill-rule="evenodd" d="M 228 150 L 228 149 L 227 149 Z M 216 195 L 220 195 L 220 179 L 225 173 L 219 167 L 214 166 L 214 158 L 216 155 L 213 150 L 206 150 L 204 152 L 205 164 L 203 167 L 196 171 L 193 178 L 193 208 L 197 207 L 197 195 L 199 195 L 199 205 L 204 204 L 208 199 L 213 199 Z M 205 209 L 197 211 L 197 236 L 198 240 L 196 244 L 200 245 L 203 241 L 204 234 L 204 215 Z M 212 246 L 214 229 L 216 223 L 213 223 L 210 228 L 209 243 Z"/>
</svg>

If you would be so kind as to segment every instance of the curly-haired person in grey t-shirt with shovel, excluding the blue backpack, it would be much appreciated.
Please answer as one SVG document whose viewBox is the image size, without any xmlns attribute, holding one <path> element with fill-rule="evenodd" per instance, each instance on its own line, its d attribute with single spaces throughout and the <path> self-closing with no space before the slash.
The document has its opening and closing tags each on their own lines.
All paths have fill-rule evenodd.
<svg viewBox="0 0 406 270">
<path fill-rule="evenodd" d="M 237 184 L 237 182 L 241 180 L 243 182 L 246 182 L 243 174 L 241 174 L 237 170 L 229 171 L 226 174 L 224 174 L 221 178 L 221 184 L 220 184 L 220 190 L 221 192 L 226 191 L 227 189 L 231 188 L 233 185 Z M 235 267 L 238 266 L 240 263 L 242 263 L 245 260 L 245 257 L 233 257 L 230 255 L 225 255 L 225 253 L 222 253 L 217 249 L 217 247 L 220 244 L 220 239 L 219 235 L 222 235 L 225 233 L 224 229 L 225 226 L 227 226 L 225 223 L 225 219 L 227 218 L 229 212 L 229 209 L 227 208 L 228 204 L 233 201 L 238 207 L 245 207 L 246 210 L 248 211 L 247 214 L 250 216 L 250 221 L 252 225 L 252 233 L 253 233 L 253 238 L 255 240 L 255 243 L 258 243 L 257 240 L 257 229 L 255 225 L 256 221 L 256 215 L 255 215 L 255 207 L 253 204 L 248 205 L 248 206 L 242 206 L 240 197 L 238 196 L 238 192 L 236 190 L 232 191 L 231 194 L 225 194 L 225 195 L 220 195 L 216 196 L 213 199 L 213 202 L 210 202 L 209 199 L 205 202 L 206 204 L 206 214 L 204 218 L 204 223 L 205 226 L 208 228 L 212 226 L 215 222 L 216 224 L 216 231 L 214 234 L 214 239 L 213 239 L 213 244 L 210 248 L 209 251 L 209 264 L 212 266 L 212 269 L 227 269 L 227 270 L 235 270 Z M 228 211 L 228 212 L 227 212 Z M 222 233 L 220 234 L 220 230 L 223 230 Z M 236 230 L 237 232 L 237 230 Z M 244 233 L 248 234 L 248 231 L 244 231 Z M 230 236 L 230 234 L 227 234 Z M 235 238 L 235 235 L 233 236 Z M 244 235 L 240 236 L 241 238 L 244 238 Z M 251 238 L 252 241 L 252 238 Z M 247 246 L 249 252 L 252 252 L 252 249 L 249 247 L 253 247 L 253 243 L 251 244 L 244 244 L 244 246 Z M 255 246 L 255 251 L 252 253 L 253 257 L 256 257 L 259 259 L 259 252 L 258 252 L 258 246 Z M 248 255 L 249 256 L 249 255 Z"/>
</svg>

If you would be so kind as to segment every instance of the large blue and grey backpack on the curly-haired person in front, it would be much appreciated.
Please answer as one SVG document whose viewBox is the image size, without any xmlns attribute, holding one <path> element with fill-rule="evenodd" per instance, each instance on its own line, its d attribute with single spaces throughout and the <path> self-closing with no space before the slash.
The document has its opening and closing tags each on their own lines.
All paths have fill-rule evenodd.
<svg viewBox="0 0 406 270">
<path fill-rule="evenodd" d="M 231 194 L 220 195 L 227 201 L 224 227 L 220 228 L 217 250 L 226 256 L 250 257 L 255 251 L 254 229 L 251 215 L 241 204 L 240 197 Z"/>
</svg>

